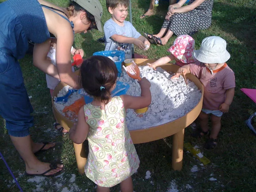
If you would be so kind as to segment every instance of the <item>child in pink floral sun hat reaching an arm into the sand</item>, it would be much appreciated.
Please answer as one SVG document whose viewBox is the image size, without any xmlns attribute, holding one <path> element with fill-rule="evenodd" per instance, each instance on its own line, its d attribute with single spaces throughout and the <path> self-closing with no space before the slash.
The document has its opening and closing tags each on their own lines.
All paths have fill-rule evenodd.
<svg viewBox="0 0 256 192">
<path fill-rule="evenodd" d="M 193 57 L 194 48 L 195 40 L 192 37 L 189 35 L 180 35 L 175 39 L 173 46 L 167 50 L 171 54 L 161 57 L 154 63 L 147 63 L 147 65 L 156 70 L 156 67 L 175 60 L 176 65 L 182 67 L 183 65 L 195 62 Z"/>
</svg>

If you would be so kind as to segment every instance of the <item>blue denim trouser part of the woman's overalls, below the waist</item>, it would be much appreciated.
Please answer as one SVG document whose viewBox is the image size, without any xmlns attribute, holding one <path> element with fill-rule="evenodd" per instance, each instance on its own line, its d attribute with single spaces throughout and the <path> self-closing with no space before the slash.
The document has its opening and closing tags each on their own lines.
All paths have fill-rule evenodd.
<svg viewBox="0 0 256 192">
<path fill-rule="evenodd" d="M 29 128 L 33 126 L 32 112 L 18 60 L 0 50 L 0 116 L 6 120 L 8 134 L 29 135 Z"/>
</svg>

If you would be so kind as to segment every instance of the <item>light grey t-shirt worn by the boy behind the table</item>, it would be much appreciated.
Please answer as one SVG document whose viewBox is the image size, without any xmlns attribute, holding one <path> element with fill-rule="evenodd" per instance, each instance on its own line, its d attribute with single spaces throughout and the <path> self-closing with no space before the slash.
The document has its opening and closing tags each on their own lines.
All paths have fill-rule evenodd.
<svg viewBox="0 0 256 192">
<path fill-rule="evenodd" d="M 125 52 L 125 59 L 132 58 L 132 44 L 118 43 L 110 39 L 112 35 L 123 35 L 125 37 L 139 38 L 141 34 L 128 21 L 124 21 L 124 26 L 121 27 L 112 19 L 106 21 L 104 25 L 105 33 L 105 51 L 106 50 L 123 50 Z"/>
</svg>

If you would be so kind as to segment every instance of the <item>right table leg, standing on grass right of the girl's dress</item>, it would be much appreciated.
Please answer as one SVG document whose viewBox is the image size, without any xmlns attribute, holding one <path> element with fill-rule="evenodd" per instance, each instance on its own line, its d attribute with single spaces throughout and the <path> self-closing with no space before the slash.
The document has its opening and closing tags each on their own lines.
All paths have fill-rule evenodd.
<svg viewBox="0 0 256 192">
<path fill-rule="evenodd" d="M 182 129 L 173 135 L 172 167 L 178 171 L 182 169 L 184 130 Z"/>
</svg>

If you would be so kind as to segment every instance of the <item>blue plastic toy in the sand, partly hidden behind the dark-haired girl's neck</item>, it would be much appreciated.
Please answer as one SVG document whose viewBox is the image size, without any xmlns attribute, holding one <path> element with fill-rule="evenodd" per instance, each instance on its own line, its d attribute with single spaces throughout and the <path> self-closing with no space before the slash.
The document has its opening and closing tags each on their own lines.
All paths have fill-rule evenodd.
<svg viewBox="0 0 256 192">
<path fill-rule="evenodd" d="M 114 96 L 120 96 L 120 95 L 125 95 L 126 92 L 129 89 L 129 84 L 126 84 L 124 82 L 118 81 L 116 83 L 116 88 L 112 91 L 111 95 L 112 97 Z M 78 90 L 79 94 L 82 94 L 84 96 L 84 101 L 86 103 L 90 103 L 93 101 L 93 97 L 89 96 L 83 89 Z"/>
</svg>

